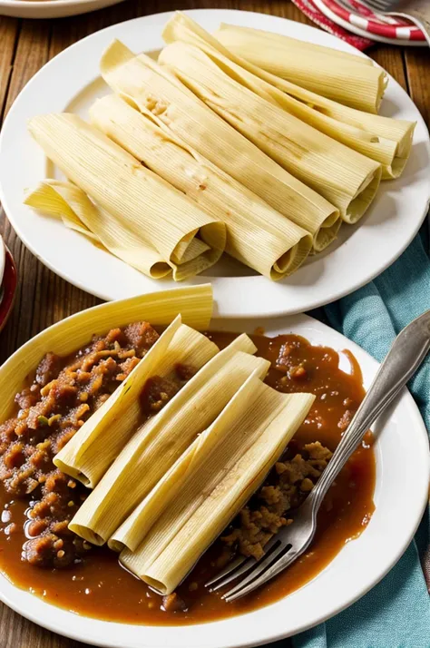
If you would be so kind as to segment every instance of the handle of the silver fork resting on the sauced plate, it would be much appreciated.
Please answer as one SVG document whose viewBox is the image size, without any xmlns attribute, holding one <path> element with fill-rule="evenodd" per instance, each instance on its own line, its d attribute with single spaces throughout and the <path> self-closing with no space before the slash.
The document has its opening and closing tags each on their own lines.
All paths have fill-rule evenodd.
<svg viewBox="0 0 430 648">
<path fill-rule="evenodd" d="M 426 310 L 396 337 L 333 457 L 308 496 L 307 507 L 310 506 L 315 515 L 328 488 L 357 449 L 368 428 L 413 376 L 429 348 L 430 310 Z"/>
</svg>

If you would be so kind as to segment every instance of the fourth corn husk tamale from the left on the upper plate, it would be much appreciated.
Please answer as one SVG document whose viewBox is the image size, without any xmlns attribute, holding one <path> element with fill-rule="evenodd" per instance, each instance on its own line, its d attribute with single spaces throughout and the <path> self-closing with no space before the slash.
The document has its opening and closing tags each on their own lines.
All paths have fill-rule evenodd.
<svg viewBox="0 0 430 648">
<path fill-rule="evenodd" d="M 363 216 L 379 186 L 380 164 L 244 87 L 236 81 L 242 68 L 215 50 L 206 54 L 176 42 L 162 50 L 159 61 L 251 142 L 334 204 L 344 221 L 354 223 Z"/>
</svg>

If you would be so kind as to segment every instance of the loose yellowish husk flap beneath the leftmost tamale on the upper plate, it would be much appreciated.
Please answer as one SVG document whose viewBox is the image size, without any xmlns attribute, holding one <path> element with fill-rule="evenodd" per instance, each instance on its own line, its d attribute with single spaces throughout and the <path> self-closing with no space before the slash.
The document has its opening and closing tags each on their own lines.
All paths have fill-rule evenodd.
<svg viewBox="0 0 430 648">
<path fill-rule="evenodd" d="M 66 227 L 99 243 L 151 279 L 161 279 L 171 273 L 177 278 L 178 266 L 174 265 L 172 270 L 140 232 L 129 230 L 126 223 L 119 223 L 109 211 L 97 207 L 72 182 L 44 180 L 27 192 L 24 204 L 41 214 L 60 219 Z"/>
</svg>

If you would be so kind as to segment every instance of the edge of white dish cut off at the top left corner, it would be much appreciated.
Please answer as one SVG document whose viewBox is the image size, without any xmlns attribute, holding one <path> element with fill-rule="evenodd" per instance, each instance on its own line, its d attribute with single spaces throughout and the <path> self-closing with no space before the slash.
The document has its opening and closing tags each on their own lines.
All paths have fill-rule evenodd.
<svg viewBox="0 0 430 648">
<path fill-rule="evenodd" d="M 67 15 L 87 14 L 120 2 L 122 0 L 0 0 L 0 15 L 14 15 L 16 18 L 64 18 Z"/>
</svg>

